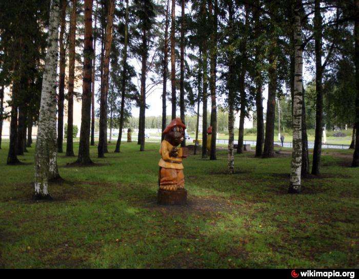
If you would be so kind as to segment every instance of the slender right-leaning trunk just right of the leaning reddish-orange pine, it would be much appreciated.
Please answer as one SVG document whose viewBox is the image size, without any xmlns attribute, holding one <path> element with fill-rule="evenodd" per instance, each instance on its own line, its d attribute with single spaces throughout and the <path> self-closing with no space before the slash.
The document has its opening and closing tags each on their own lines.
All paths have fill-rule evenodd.
<svg viewBox="0 0 359 279">
<path fill-rule="evenodd" d="M 118 139 L 116 143 L 115 152 L 120 152 L 122 130 L 124 128 L 124 111 L 125 111 L 125 94 L 126 94 L 126 65 L 127 65 L 127 41 L 128 41 L 128 0 L 126 0 L 126 16 L 125 16 L 125 42 L 122 58 L 122 92 L 121 92 L 121 111 L 119 116 Z"/>
</svg>

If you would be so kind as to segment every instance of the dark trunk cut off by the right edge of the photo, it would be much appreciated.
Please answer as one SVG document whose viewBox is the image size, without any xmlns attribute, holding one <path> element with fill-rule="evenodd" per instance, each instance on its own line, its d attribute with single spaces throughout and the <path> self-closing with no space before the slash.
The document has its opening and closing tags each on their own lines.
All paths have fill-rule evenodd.
<svg viewBox="0 0 359 279">
<path fill-rule="evenodd" d="M 359 0 L 354 2 L 354 12 L 359 12 Z M 355 41 L 355 149 L 353 154 L 352 166 L 359 166 L 359 19 L 355 18 L 354 23 L 354 41 Z"/>
</svg>

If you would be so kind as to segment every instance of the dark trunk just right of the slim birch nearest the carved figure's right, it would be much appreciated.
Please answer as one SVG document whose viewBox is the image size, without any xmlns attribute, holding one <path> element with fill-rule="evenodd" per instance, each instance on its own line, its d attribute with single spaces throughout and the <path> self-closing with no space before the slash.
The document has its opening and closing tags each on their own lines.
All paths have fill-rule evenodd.
<svg viewBox="0 0 359 279">
<path fill-rule="evenodd" d="M 238 146 L 237 154 L 243 153 L 243 140 L 244 140 L 244 120 L 246 118 L 246 88 L 245 88 L 245 78 L 247 72 L 247 37 L 248 37 L 248 26 L 249 26 L 249 8 L 248 5 L 245 5 L 246 16 L 245 16 L 245 34 L 244 40 L 242 42 L 242 68 L 240 74 L 240 98 L 241 98 L 241 115 L 240 115 L 240 128 L 238 129 Z"/>
</svg>

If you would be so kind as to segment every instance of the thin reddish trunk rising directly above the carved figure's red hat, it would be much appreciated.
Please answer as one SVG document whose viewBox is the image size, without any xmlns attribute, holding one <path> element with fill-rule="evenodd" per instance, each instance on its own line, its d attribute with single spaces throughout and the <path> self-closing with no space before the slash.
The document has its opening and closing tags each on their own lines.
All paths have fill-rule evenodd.
<svg viewBox="0 0 359 279">
<path fill-rule="evenodd" d="M 171 85 L 172 85 L 172 119 L 176 118 L 176 64 L 175 64 L 175 9 L 176 1 L 172 0 L 172 22 L 171 22 Z"/>
</svg>

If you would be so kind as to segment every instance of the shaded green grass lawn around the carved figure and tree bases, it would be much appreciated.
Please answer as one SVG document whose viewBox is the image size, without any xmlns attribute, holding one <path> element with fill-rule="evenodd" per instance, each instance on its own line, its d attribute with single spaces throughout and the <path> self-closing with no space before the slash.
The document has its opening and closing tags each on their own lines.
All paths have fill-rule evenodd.
<svg viewBox="0 0 359 279">
<path fill-rule="evenodd" d="M 7 166 L 0 149 L 2 268 L 359 268 L 359 169 L 352 151 L 323 150 L 322 175 L 287 194 L 290 151 L 272 159 L 227 152 L 184 162 L 188 205 L 156 204 L 159 143 L 109 145 L 96 165 L 68 166 L 35 202 L 34 147 Z M 75 143 L 75 153 L 78 144 Z M 65 147 L 64 147 L 65 148 Z M 65 150 L 65 149 L 64 149 Z"/>
</svg>

